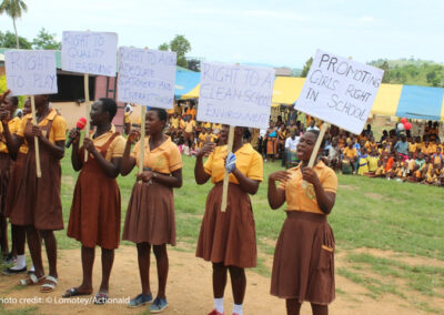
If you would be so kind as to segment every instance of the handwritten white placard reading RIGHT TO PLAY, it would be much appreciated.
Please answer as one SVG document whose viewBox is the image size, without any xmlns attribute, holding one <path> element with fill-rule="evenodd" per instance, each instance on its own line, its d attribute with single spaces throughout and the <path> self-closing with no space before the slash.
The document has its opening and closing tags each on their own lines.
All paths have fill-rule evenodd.
<svg viewBox="0 0 444 315">
<path fill-rule="evenodd" d="M 4 67 L 11 95 L 56 94 L 53 50 L 7 50 Z"/>
</svg>

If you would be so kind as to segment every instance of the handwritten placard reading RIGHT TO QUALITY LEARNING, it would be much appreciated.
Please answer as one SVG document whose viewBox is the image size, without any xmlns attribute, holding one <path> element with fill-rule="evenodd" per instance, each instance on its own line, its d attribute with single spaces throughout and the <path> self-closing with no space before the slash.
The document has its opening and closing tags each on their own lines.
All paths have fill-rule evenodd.
<svg viewBox="0 0 444 315">
<path fill-rule="evenodd" d="M 65 31 L 62 70 L 115 77 L 117 52 L 117 33 Z"/>
</svg>

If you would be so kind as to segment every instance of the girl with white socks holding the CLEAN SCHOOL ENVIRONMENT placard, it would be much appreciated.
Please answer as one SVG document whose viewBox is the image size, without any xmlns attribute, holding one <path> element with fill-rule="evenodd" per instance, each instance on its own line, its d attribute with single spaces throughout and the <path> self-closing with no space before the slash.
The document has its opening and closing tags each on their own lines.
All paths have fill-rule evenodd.
<svg viewBox="0 0 444 315">
<path fill-rule="evenodd" d="M 228 126 L 221 131 L 221 140 L 226 143 Z M 243 143 L 243 128 L 235 128 L 233 153 L 235 166 L 229 167 L 230 184 L 228 209 L 221 212 L 222 183 L 225 174 L 228 146 L 206 143 L 198 153 L 194 176 L 202 185 L 210 179 L 214 187 L 208 195 L 205 214 L 198 241 L 196 256 L 213 264 L 214 309 L 211 315 L 223 314 L 223 296 L 226 273 L 230 271 L 234 297 L 233 314 L 242 315 L 246 278 L 244 268 L 256 266 L 256 240 L 253 210 L 249 194 L 255 194 L 263 180 L 262 156 Z M 205 164 L 203 156 L 209 155 Z"/>
</svg>

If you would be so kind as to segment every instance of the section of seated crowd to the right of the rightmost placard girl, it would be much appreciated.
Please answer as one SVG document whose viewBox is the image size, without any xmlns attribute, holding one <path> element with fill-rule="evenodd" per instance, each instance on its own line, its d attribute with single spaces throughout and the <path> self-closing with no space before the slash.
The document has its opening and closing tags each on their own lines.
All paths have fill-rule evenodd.
<svg viewBox="0 0 444 315">
<path fill-rule="evenodd" d="M 444 148 L 437 123 L 428 122 L 423 136 L 384 131 L 379 142 L 370 131 L 369 125 L 357 138 L 345 131 L 327 134 L 324 161 L 344 174 L 444 185 Z"/>
</svg>

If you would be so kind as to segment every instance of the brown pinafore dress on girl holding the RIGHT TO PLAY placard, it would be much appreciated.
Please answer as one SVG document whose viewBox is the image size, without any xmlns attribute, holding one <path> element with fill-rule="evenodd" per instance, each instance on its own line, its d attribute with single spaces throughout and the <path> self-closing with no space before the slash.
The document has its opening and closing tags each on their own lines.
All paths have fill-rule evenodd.
<svg viewBox="0 0 444 315">
<path fill-rule="evenodd" d="M 54 116 L 54 119 L 57 115 Z M 43 135 L 49 139 L 53 120 L 41 126 Z M 40 149 L 41 177 L 37 177 L 34 136 L 32 122 L 28 119 L 24 128 L 24 140 L 28 143 L 28 154 L 23 158 L 23 169 L 20 179 L 10 185 L 8 196 L 8 215 L 12 224 L 37 230 L 63 230 L 62 204 L 60 201 L 61 167 L 60 160 L 44 146 Z"/>
</svg>

